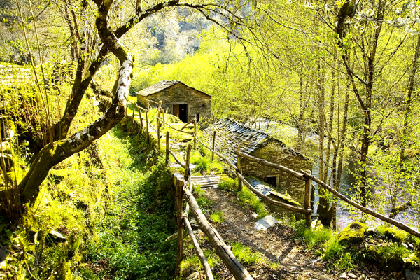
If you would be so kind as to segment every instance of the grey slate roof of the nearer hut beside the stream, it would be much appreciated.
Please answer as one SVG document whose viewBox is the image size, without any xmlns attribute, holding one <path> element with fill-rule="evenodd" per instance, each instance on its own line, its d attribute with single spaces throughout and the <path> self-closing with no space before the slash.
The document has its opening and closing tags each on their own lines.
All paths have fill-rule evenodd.
<svg viewBox="0 0 420 280">
<path fill-rule="evenodd" d="M 292 148 L 286 147 L 279 139 L 275 139 L 265 132 L 255 130 L 252 127 L 248 127 L 231 118 L 218 120 L 207 128 L 206 131 L 209 135 L 210 144 L 212 141 L 211 137 L 213 137 L 211 132 L 214 130 L 217 131 L 215 141 L 216 150 L 221 151 L 221 153 L 223 153 L 223 155 L 225 155 L 234 165 L 237 165 L 237 155 L 235 154 L 235 151 L 237 151 L 239 145 L 241 147 L 241 152 L 248 154 L 251 154 L 265 144 L 274 143 L 280 147 L 286 148 L 291 155 L 302 155 Z"/>
</svg>

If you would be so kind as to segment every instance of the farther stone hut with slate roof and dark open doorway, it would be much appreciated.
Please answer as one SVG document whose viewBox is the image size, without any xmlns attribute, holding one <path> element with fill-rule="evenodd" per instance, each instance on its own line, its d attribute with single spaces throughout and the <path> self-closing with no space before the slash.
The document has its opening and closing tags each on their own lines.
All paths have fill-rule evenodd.
<svg viewBox="0 0 420 280">
<path fill-rule="evenodd" d="M 192 118 L 211 118 L 211 96 L 180 82 L 179 80 L 162 80 L 155 85 L 137 92 L 137 101 L 146 108 L 158 106 L 153 102 L 162 101 L 165 112 L 177 116 L 184 123 Z"/>
</svg>

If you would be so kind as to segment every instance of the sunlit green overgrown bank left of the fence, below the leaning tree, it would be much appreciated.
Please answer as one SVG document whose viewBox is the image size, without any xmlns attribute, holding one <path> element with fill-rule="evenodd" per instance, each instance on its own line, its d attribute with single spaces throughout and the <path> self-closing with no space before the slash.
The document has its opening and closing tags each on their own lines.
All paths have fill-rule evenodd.
<svg viewBox="0 0 420 280">
<path fill-rule="evenodd" d="M 113 129 L 50 172 L 18 224 L 1 220 L 8 257 L 0 278 L 172 279 L 171 186 L 164 158 Z M 51 230 L 66 240 L 50 239 Z"/>
</svg>

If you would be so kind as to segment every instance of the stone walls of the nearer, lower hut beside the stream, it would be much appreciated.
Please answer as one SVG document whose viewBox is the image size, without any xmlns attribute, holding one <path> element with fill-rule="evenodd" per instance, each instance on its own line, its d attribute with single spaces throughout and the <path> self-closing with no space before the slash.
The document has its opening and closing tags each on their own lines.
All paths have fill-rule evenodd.
<svg viewBox="0 0 420 280">
<path fill-rule="evenodd" d="M 311 170 L 312 164 L 302 155 L 293 155 L 288 148 L 281 148 L 274 144 L 262 146 L 251 153 L 256 158 L 262 158 L 269 162 L 283 165 L 297 172 L 302 170 Z M 280 193 L 288 193 L 293 200 L 296 200 L 303 206 L 304 202 L 304 181 L 295 178 L 279 169 L 260 165 L 257 162 L 251 162 L 246 158 L 242 159 L 242 172 L 245 175 L 255 176 L 262 181 L 267 181 L 267 176 L 279 176 Z"/>
</svg>

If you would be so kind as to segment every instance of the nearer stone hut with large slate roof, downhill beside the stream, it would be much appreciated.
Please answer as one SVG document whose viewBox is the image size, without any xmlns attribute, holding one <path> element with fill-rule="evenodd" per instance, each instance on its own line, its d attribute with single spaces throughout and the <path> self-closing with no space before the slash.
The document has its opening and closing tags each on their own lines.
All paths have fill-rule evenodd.
<svg viewBox="0 0 420 280">
<path fill-rule="evenodd" d="M 211 142 L 214 130 L 216 130 L 216 150 L 221 151 L 235 165 L 237 165 L 235 151 L 240 147 L 240 151 L 244 153 L 286 166 L 297 172 L 300 169 L 312 169 L 310 160 L 301 153 L 288 148 L 279 139 L 238 123 L 236 120 L 225 118 L 208 127 L 209 142 Z M 303 205 L 304 181 L 278 169 L 251 162 L 246 158 L 241 159 L 241 166 L 244 176 L 253 176 L 273 186 L 279 193 L 288 193 L 293 200 Z"/>
</svg>

